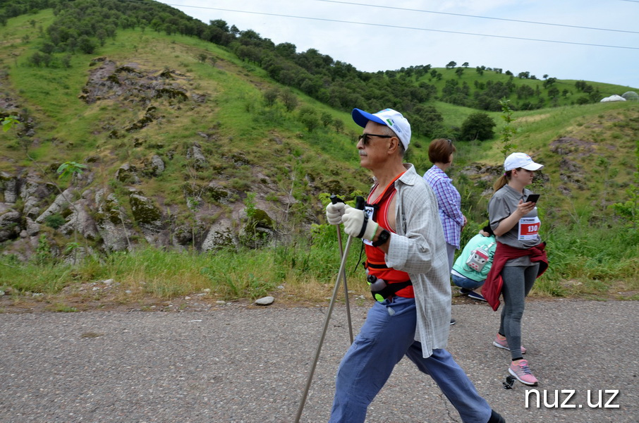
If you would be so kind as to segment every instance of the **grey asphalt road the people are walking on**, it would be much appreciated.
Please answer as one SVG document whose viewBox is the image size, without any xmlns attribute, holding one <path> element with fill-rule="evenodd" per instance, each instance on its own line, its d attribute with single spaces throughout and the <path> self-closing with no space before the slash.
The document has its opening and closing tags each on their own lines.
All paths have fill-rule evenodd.
<svg viewBox="0 0 639 423">
<path fill-rule="evenodd" d="M 352 307 L 355 333 L 366 311 Z M 293 422 L 326 312 L 275 303 L 0 314 L 0 422 Z M 528 302 L 523 344 L 540 379 L 540 404 L 529 393 L 528 407 L 533 388 L 502 386 L 509 353 L 492 346 L 498 314 L 477 303 L 454 305 L 453 315 L 449 350 L 507 422 L 639 422 L 639 302 Z M 302 422 L 328 420 L 346 321 L 336 306 Z M 460 421 L 408 360 L 367 419 Z"/>
</svg>

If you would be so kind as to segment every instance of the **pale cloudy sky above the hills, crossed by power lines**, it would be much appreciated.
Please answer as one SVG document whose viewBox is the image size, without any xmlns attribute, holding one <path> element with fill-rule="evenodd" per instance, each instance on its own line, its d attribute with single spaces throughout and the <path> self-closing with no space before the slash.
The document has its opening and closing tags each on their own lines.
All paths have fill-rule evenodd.
<svg viewBox="0 0 639 423">
<path fill-rule="evenodd" d="M 317 49 L 360 71 L 455 61 L 515 75 L 528 71 L 539 79 L 549 75 L 639 88 L 639 0 L 162 3 L 205 23 L 222 19 L 275 44 L 293 43 L 298 53 Z"/>
</svg>

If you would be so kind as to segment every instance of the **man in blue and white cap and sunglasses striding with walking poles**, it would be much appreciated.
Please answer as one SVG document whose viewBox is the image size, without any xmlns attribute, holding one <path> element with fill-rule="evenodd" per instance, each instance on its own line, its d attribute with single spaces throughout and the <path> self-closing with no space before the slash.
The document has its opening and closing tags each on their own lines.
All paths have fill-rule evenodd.
<svg viewBox="0 0 639 423">
<path fill-rule="evenodd" d="M 463 422 L 505 422 L 445 350 L 449 264 L 437 199 L 413 165 L 403 164 L 410 124 L 392 109 L 376 114 L 353 109 L 352 116 L 364 128 L 357 148 L 374 185 L 365 210 L 329 204 L 327 220 L 363 238 L 377 301 L 339 366 L 330 422 L 364 422 L 368 405 L 404 355 L 434 379 Z"/>
</svg>

